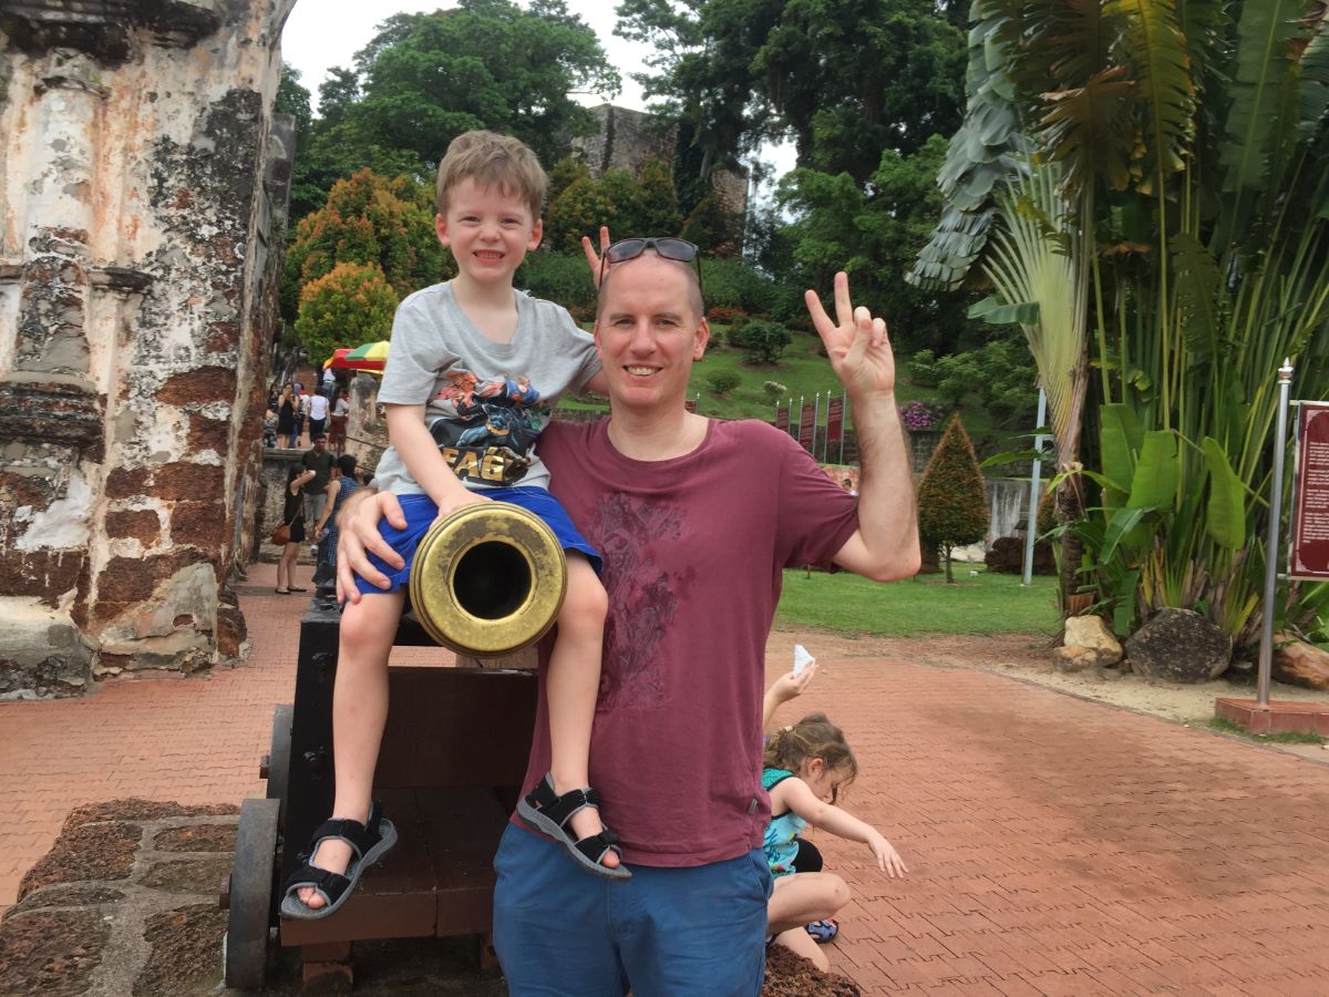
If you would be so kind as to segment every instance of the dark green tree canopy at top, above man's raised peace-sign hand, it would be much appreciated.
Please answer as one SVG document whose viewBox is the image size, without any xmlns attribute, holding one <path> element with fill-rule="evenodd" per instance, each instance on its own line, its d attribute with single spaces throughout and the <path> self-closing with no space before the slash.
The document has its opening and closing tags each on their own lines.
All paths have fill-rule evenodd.
<svg viewBox="0 0 1329 997">
<path fill-rule="evenodd" d="M 703 177 L 792 134 L 799 165 L 864 181 L 882 149 L 909 154 L 961 120 L 964 33 L 933 0 L 625 0 L 618 13 L 617 33 L 657 49 L 634 78 L 690 125 Z"/>
</svg>

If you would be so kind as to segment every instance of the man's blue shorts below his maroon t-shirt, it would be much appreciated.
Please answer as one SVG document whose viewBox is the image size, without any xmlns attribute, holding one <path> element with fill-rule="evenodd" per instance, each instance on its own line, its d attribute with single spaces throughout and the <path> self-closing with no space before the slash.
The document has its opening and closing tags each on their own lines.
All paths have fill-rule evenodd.
<svg viewBox="0 0 1329 997">
<path fill-rule="evenodd" d="M 758 997 L 771 871 L 755 848 L 609 881 L 509 824 L 494 856 L 494 949 L 512 997 Z"/>
</svg>

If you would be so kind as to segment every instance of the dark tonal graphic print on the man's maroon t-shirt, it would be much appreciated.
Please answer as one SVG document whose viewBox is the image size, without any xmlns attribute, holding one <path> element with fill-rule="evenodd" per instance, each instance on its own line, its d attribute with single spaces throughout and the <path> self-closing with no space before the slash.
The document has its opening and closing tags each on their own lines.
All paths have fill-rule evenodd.
<svg viewBox="0 0 1329 997">
<path fill-rule="evenodd" d="M 601 578 L 609 605 L 615 608 L 605 625 L 605 667 L 595 709 L 654 709 L 670 697 L 657 645 L 674 622 L 692 569 L 671 576 L 643 552 L 654 542 L 683 536 L 683 510 L 617 493 L 601 498 L 595 514 L 587 538 L 605 561 Z"/>
</svg>

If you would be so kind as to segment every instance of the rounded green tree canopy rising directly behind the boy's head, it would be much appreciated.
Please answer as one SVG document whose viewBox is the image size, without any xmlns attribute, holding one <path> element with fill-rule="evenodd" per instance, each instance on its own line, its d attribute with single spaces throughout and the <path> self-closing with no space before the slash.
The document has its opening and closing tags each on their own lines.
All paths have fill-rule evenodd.
<svg viewBox="0 0 1329 997">
<path fill-rule="evenodd" d="M 435 13 L 393 15 L 356 53 L 354 69 L 334 68 L 320 84 L 292 217 L 319 206 L 312 191 L 364 166 L 429 177 L 448 144 L 474 128 L 516 136 L 548 166 L 571 137 L 594 129 L 575 94 L 618 90 L 595 32 L 563 0 L 525 8 L 460 0 Z"/>
</svg>

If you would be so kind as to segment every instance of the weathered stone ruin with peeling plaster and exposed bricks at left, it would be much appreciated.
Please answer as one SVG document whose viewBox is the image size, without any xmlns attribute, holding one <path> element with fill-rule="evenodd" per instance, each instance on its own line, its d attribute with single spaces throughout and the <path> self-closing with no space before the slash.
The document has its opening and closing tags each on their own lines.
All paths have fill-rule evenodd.
<svg viewBox="0 0 1329 997">
<path fill-rule="evenodd" d="M 242 653 L 294 3 L 0 3 L 0 695 Z"/>
</svg>

